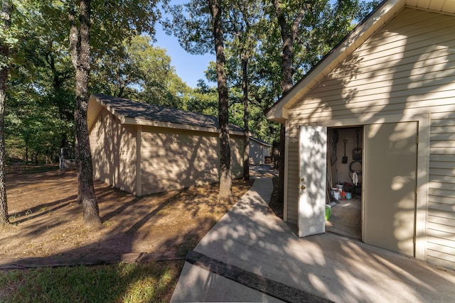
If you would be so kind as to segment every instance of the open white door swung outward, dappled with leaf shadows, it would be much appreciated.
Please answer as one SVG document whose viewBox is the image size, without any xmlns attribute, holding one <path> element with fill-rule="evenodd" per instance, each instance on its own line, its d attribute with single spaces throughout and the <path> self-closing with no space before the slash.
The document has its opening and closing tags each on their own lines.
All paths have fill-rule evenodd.
<svg viewBox="0 0 455 303">
<path fill-rule="evenodd" d="M 299 237 L 325 232 L 327 128 L 301 126 Z"/>
</svg>

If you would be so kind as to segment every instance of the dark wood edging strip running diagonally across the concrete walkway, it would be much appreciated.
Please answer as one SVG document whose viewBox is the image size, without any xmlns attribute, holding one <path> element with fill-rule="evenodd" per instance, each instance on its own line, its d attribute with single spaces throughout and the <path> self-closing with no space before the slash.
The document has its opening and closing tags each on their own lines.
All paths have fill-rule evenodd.
<svg viewBox="0 0 455 303">
<path fill-rule="evenodd" d="M 205 270 L 215 273 L 216 275 L 220 275 L 284 302 L 332 302 L 331 300 L 319 297 L 316 294 L 311 294 L 309 292 L 305 292 L 304 290 L 299 290 L 289 285 L 285 285 L 281 282 L 270 280 L 267 277 L 257 275 L 254 272 L 242 270 L 235 265 L 230 265 L 228 263 L 224 263 L 223 261 L 210 258 L 194 250 L 188 251 L 185 260 L 188 263 L 197 265 L 200 268 L 204 268 Z"/>
</svg>

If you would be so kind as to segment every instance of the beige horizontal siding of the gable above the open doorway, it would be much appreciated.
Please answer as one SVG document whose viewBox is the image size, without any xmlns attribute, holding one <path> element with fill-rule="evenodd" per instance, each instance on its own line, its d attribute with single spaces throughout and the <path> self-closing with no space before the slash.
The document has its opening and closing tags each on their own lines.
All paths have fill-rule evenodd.
<svg viewBox="0 0 455 303">
<path fill-rule="evenodd" d="M 314 123 L 454 110 L 454 32 L 451 16 L 405 9 L 289 114 Z"/>
</svg>

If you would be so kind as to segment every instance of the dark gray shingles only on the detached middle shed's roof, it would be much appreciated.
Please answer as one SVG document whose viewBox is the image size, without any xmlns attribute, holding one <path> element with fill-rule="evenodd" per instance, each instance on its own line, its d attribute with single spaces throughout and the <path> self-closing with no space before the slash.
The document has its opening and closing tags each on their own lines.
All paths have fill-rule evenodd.
<svg viewBox="0 0 455 303">
<path fill-rule="evenodd" d="M 92 94 L 102 103 L 109 106 L 124 118 L 175 123 L 188 126 L 218 128 L 218 118 L 191 111 L 173 109 L 167 106 L 157 106 L 129 99 L 107 96 L 104 94 Z M 243 128 L 230 124 L 231 131 L 243 131 Z"/>
</svg>

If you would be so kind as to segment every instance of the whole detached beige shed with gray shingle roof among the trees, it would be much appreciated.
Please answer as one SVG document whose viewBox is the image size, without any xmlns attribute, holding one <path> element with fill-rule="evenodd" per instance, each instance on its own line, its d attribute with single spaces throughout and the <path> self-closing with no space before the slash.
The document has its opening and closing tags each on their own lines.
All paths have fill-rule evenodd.
<svg viewBox="0 0 455 303">
<path fill-rule="evenodd" d="M 95 178 L 137 196 L 218 182 L 218 119 L 92 94 L 87 110 Z M 230 126 L 232 177 L 245 137 Z"/>
</svg>

